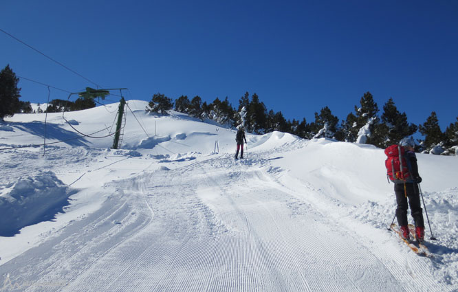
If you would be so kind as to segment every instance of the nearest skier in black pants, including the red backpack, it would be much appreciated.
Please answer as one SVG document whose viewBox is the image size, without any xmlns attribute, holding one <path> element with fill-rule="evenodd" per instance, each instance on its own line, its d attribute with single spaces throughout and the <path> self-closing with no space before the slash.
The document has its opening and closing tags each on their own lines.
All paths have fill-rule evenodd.
<svg viewBox="0 0 458 292">
<path fill-rule="evenodd" d="M 419 243 L 424 241 L 423 210 L 420 202 L 418 183 L 422 177 L 418 174 L 417 157 L 411 138 L 402 139 L 399 145 L 391 145 L 385 149 L 388 158 L 385 161 L 387 177 L 395 183 L 396 217 L 401 235 L 409 240 L 407 209 L 411 207 L 411 215 L 415 222 L 415 238 Z"/>
</svg>

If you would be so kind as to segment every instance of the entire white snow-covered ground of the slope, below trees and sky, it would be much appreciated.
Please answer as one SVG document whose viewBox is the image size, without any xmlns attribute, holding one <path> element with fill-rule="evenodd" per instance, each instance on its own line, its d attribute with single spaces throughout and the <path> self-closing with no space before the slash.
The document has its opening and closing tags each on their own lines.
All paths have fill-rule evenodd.
<svg viewBox="0 0 458 292">
<path fill-rule="evenodd" d="M 458 291 L 458 157 L 417 155 L 421 257 L 382 149 L 247 134 L 235 160 L 235 130 L 128 104 L 118 150 L 118 104 L 0 124 L 0 291 Z"/>
</svg>

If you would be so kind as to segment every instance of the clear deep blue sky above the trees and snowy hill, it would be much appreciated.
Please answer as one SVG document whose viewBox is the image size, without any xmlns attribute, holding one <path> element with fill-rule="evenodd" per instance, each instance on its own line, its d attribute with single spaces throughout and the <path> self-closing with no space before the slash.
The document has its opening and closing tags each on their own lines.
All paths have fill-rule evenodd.
<svg viewBox="0 0 458 292">
<path fill-rule="evenodd" d="M 458 116 L 458 1 L 3 1 L 0 28 L 127 99 L 248 91 L 292 120 L 340 120 L 370 91 L 409 122 Z M 95 87 L 0 32 L 0 67 L 67 91 Z M 21 80 L 21 100 L 47 87 Z M 51 99 L 67 93 L 51 90 Z M 109 98 L 117 101 L 117 97 Z"/>
</svg>

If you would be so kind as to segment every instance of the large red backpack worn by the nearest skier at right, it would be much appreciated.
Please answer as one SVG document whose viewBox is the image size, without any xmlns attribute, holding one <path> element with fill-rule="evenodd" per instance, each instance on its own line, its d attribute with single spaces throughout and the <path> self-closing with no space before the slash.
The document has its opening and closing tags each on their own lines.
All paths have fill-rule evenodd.
<svg viewBox="0 0 458 292">
<path fill-rule="evenodd" d="M 404 158 L 404 147 L 391 145 L 385 149 L 388 158 L 385 160 L 386 177 L 393 183 L 405 183 L 411 179 L 407 161 Z"/>
</svg>

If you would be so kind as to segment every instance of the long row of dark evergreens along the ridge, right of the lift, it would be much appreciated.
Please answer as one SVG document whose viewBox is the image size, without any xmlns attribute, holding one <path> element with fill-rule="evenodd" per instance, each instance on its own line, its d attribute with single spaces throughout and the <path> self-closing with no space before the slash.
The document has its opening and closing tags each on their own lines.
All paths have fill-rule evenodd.
<svg viewBox="0 0 458 292">
<path fill-rule="evenodd" d="M 281 131 L 305 139 L 327 137 L 342 142 L 358 142 L 386 148 L 419 131 L 424 139 L 417 140 L 417 151 L 448 155 L 455 154 L 452 147 L 458 146 L 458 117 L 445 132 L 441 131 L 434 111 L 424 124 L 415 125 L 408 122 L 405 112 L 401 113 L 397 109 L 393 98 L 389 98 L 384 104 L 380 115 L 378 104 L 370 92 L 364 93 L 360 98 L 360 105 L 354 106 L 354 111 L 341 121 L 332 114 L 328 106 L 319 113 L 316 112 L 312 122 L 307 122 L 305 118 L 301 121 L 286 120 L 281 111 L 268 110 L 256 93 L 250 98 L 248 92 L 239 99 L 237 109 L 232 107 L 227 97 L 224 100 L 216 98 L 208 104 L 202 102 L 199 96 L 191 100 L 188 96 L 180 96 L 173 102 L 164 94 L 156 93 L 146 111 L 166 114 L 171 109 L 201 120 L 215 120 L 226 126 L 236 127 L 242 124 L 246 131 L 255 134 Z M 437 150 L 438 147 L 441 150 Z"/>
</svg>

